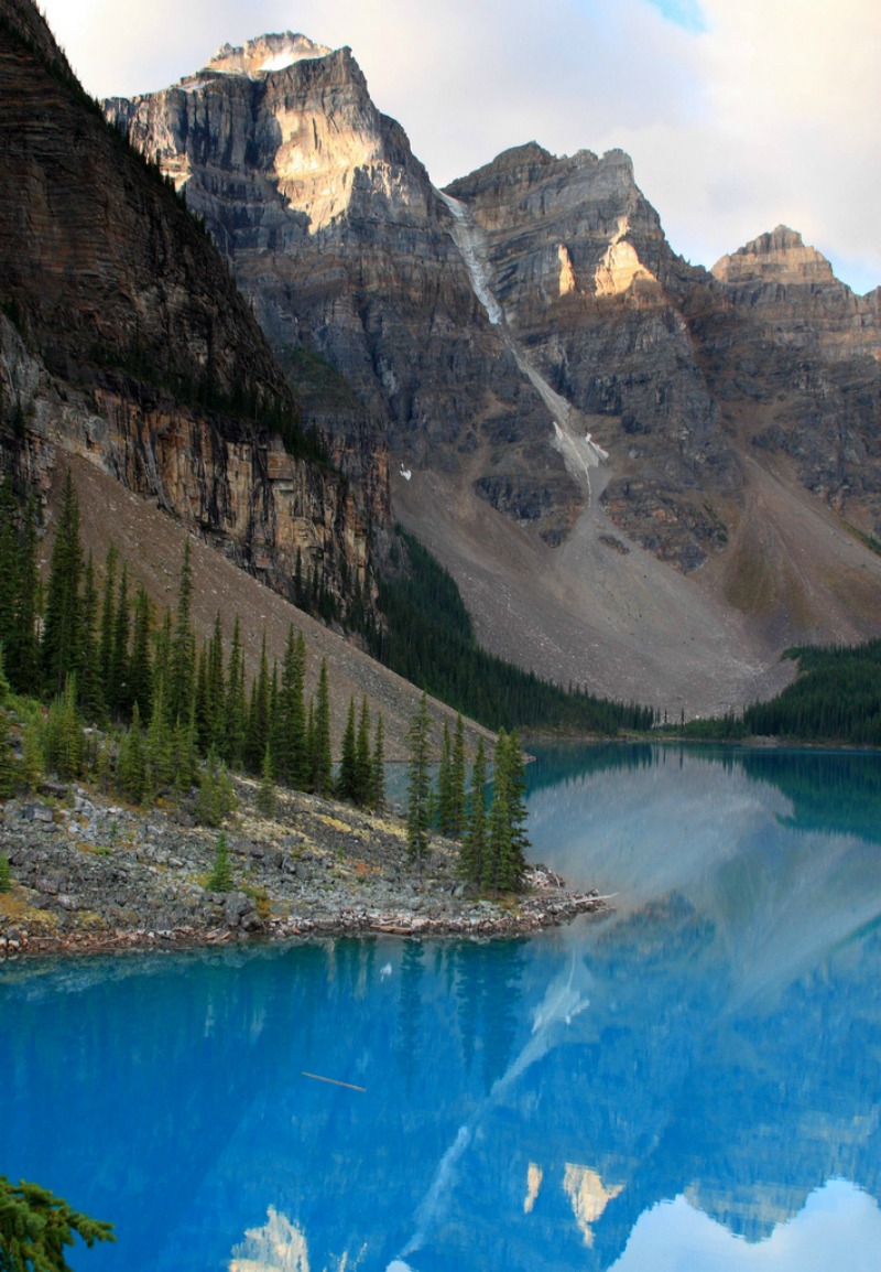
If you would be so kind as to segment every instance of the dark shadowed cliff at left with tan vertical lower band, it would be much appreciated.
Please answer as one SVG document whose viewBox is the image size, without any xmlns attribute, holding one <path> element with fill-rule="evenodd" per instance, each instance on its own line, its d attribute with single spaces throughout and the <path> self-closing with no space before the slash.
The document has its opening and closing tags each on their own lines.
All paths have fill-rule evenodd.
<svg viewBox="0 0 881 1272">
<path fill-rule="evenodd" d="M 299 407 L 222 259 L 28 0 L 0 0 L 0 298 L 8 467 L 44 482 L 79 452 L 282 590 L 299 551 L 343 608 L 346 572 L 370 591 L 383 471 L 353 488 L 296 457 Z"/>
</svg>

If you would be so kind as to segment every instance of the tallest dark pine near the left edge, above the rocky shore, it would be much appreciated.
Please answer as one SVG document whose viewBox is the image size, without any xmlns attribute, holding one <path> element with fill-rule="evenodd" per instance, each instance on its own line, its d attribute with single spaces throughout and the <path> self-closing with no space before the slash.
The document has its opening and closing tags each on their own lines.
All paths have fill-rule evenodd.
<svg viewBox="0 0 881 1272">
<path fill-rule="evenodd" d="M 67 469 L 52 543 L 43 622 L 43 670 L 52 693 L 62 693 L 66 677 L 79 670 L 81 576 L 80 510 Z"/>
</svg>

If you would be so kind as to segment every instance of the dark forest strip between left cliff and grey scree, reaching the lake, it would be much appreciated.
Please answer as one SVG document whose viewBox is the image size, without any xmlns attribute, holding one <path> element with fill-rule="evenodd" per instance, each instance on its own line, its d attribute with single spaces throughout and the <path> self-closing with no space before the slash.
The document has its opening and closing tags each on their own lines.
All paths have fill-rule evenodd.
<svg viewBox="0 0 881 1272">
<path fill-rule="evenodd" d="M 481 649 L 453 577 L 413 536 L 400 530 L 397 575 L 379 583 L 388 626 L 370 628 L 379 661 L 491 729 L 559 729 L 614 735 L 650 729 L 651 707 L 567 693 Z"/>
</svg>

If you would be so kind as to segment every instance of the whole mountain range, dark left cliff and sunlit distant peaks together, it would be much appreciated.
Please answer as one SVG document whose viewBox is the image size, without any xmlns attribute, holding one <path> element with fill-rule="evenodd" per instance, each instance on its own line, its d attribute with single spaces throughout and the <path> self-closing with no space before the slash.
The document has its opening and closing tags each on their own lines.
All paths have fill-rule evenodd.
<svg viewBox="0 0 881 1272">
<path fill-rule="evenodd" d="M 19 480 L 72 454 L 282 595 L 299 561 L 342 623 L 399 522 L 487 649 L 676 716 L 881 633 L 881 289 L 796 230 L 692 266 L 618 150 L 437 190 L 301 34 L 102 117 L 29 0 L 0 0 L 0 142 Z"/>
</svg>

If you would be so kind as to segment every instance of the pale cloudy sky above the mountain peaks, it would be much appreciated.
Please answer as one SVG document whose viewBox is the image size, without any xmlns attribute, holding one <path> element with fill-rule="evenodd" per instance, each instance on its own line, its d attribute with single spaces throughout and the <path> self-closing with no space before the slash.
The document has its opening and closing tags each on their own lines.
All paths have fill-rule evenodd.
<svg viewBox="0 0 881 1272">
<path fill-rule="evenodd" d="M 436 186 L 538 141 L 633 158 L 694 265 L 775 225 L 881 285 L 878 0 L 42 0 L 95 97 L 149 93 L 222 43 L 348 45 Z"/>
</svg>

